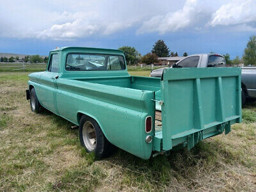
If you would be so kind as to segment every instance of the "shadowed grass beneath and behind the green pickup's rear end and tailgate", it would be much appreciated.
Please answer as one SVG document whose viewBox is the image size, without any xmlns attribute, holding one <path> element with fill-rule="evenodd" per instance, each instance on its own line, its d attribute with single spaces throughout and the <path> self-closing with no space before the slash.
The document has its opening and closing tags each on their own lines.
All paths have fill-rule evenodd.
<svg viewBox="0 0 256 192">
<path fill-rule="evenodd" d="M 163 188 L 166 185 L 177 186 L 173 189 L 179 191 L 186 187 L 193 189 L 200 182 L 198 176 L 202 173 L 210 174 L 225 170 L 227 163 L 232 164 L 232 159 L 233 154 L 225 150 L 223 143 L 211 140 L 200 141 L 189 151 L 186 148 L 171 150 L 169 156 L 159 155 L 148 160 L 118 149 L 114 156 L 102 161 L 120 168 L 122 174 L 128 178 L 137 180 L 132 182 L 139 182 L 140 185 L 147 182 L 150 186 L 157 185 Z"/>
</svg>

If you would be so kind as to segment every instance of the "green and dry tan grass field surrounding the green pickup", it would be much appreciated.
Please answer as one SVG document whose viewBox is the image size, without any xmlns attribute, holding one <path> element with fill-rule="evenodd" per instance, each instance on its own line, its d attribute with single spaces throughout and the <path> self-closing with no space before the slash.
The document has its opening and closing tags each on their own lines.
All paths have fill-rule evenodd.
<svg viewBox="0 0 256 192">
<path fill-rule="evenodd" d="M 148 76 L 150 71 L 131 71 Z M 148 161 L 123 150 L 95 161 L 77 130 L 50 112 L 31 112 L 29 72 L 0 73 L 0 191 L 256 191 L 256 104 L 230 134 Z"/>
</svg>

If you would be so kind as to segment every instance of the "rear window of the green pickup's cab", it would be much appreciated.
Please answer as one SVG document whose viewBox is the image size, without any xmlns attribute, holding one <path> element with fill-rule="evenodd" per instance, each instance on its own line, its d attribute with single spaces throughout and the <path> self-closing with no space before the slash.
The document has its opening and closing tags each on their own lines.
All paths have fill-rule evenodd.
<svg viewBox="0 0 256 192">
<path fill-rule="evenodd" d="M 66 70 L 125 70 L 123 56 L 107 54 L 68 54 Z"/>
</svg>

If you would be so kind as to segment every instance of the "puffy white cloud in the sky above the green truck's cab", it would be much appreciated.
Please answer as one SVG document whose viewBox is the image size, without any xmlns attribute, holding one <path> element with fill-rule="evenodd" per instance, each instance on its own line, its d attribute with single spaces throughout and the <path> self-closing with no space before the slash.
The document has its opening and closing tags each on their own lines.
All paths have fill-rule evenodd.
<svg viewBox="0 0 256 192">
<path fill-rule="evenodd" d="M 72 19 L 71 19 L 72 18 Z M 54 24 L 51 28 L 45 29 L 37 33 L 37 38 L 52 38 L 54 40 L 83 38 L 92 35 L 111 35 L 116 31 L 122 31 L 132 26 L 132 22 L 120 22 L 118 20 L 104 20 L 95 13 L 77 12 L 67 14 L 67 18 L 71 19 L 63 24 Z"/>
</svg>

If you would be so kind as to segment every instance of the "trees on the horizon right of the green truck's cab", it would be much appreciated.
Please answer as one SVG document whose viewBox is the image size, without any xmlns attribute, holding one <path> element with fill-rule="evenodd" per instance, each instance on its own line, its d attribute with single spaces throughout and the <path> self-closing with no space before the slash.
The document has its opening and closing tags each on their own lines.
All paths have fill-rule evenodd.
<svg viewBox="0 0 256 192">
<path fill-rule="evenodd" d="M 153 45 L 152 50 L 144 56 L 142 56 L 134 47 L 123 46 L 120 47 L 119 50 L 124 51 L 125 60 L 128 65 L 137 63 L 146 63 L 149 65 L 158 63 L 158 58 L 179 56 L 177 52 L 170 51 L 170 48 L 164 43 L 164 40 L 157 40 Z M 182 56 L 188 56 L 188 52 L 184 52 Z M 236 56 L 234 60 L 231 60 L 230 54 L 228 53 L 223 54 L 223 56 L 225 57 L 227 65 L 237 65 L 240 63 L 244 63 L 244 65 L 256 65 L 256 36 L 250 36 L 241 58 Z"/>
</svg>

